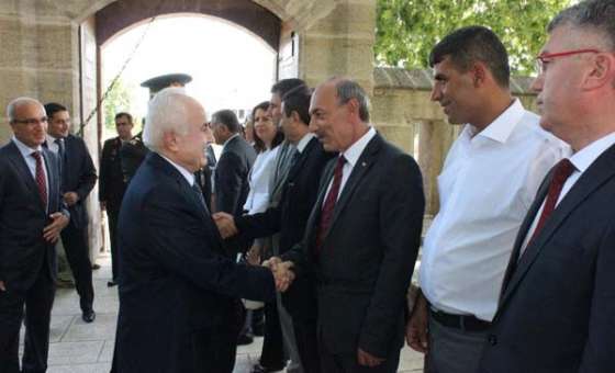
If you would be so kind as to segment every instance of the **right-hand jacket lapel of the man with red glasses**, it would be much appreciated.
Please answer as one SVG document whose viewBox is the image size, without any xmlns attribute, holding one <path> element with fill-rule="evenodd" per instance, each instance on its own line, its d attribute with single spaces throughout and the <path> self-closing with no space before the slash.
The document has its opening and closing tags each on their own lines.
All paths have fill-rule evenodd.
<svg viewBox="0 0 615 373">
<path fill-rule="evenodd" d="M 502 295 L 501 304 L 514 292 L 521 280 L 527 273 L 541 249 L 554 236 L 560 225 L 570 216 L 570 214 L 585 201 L 596 189 L 615 176 L 615 145 L 602 154 L 593 165 L 585 170 L 572 189 L 566 194 L 563 200 L 558 204 L 551 216 L 545 223 L 543 229 L 534 238 L 519 258 L 517 268 L 512 273 L 508 285 Z M 541 201 L 540 201 L 541 203 Z"/>
</svg>

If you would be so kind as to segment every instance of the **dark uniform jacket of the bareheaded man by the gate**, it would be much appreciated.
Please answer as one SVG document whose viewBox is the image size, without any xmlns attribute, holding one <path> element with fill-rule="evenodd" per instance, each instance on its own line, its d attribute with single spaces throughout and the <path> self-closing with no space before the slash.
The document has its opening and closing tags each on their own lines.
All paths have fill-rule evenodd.
<svg viewBox="0 0 615 373">
<path fill-rule="evenodd" d="M 107 202 L 111 210 L 120 208 L 128 182 L 122 166 L 121 148 L 120 137 L 110 138 L 104 142 L 100 157 L 99 201 Z"/>
</svg>

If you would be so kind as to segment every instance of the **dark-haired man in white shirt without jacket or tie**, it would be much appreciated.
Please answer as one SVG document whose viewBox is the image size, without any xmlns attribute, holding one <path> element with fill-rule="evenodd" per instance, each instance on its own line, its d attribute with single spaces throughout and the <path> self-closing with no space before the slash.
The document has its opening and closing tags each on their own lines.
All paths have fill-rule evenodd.
<svg viewBox="0 0 615 373">
<path fill-rule="evenodd" d="M 406 326 L 428 352 L 427 372 L 478 366 L 518 227 L 566 146 L 511 95 L 506 49 L 487 27 L 446 36 L 432 50 L 432 100 L 467 124 L 438 177 L 440 211 L 423 247 L 422 292 Z"/>
</svg>

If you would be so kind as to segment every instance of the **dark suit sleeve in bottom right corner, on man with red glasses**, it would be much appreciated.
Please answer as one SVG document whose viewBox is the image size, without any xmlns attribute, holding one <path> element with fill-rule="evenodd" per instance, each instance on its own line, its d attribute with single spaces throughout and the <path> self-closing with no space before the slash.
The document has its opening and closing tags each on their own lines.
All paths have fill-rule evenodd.
<svg viewBox="0 0 615 373">
<path fill-rule="evenodd" d="M 615 366 L 615 227 L 597 250 L 589 334 L 580 373 L 607 373 Z"/>
</svg>

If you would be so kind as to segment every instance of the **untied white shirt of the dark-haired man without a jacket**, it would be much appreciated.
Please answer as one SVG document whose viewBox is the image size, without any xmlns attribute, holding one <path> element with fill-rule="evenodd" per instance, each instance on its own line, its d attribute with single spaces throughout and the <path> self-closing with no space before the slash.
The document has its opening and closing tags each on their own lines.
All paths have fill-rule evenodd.
<svg viewBox="0 0 615 373">
<path fill-rule="evenodd" d="M 420 271 L 436 309 L 493 318 L 517 230 L 545 174 L 570 151 L 538 121 L 515 100 L 482 132 L 466 125 L 448 152 Z"/>
</svg>

